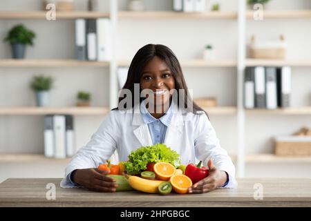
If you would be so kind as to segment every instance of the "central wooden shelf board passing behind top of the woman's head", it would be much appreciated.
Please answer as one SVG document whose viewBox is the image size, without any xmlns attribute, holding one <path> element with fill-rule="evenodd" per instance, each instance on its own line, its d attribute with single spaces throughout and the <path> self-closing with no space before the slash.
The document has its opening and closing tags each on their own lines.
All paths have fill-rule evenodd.
<svg viewBox="0 0 311 221">
<path fill-rule="evenodd" d="M 131 61 L 117 61 L 118 66 L 129 66 Z M 208 67 L 236 67 L 234 59 L 211 60 L 205 61 L 203 59 L 189 59 L 180 60 L 180 65 L 184 68 L 208 68 Z"/>
</svg>

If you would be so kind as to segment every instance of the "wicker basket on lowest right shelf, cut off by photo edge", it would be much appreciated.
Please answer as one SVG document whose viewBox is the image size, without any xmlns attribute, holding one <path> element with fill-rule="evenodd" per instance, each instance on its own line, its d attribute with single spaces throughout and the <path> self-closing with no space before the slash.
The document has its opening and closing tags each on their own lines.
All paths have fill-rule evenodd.
<svg viewBox="0 0 311 221">
<path fill-rule="evenodd" d="M 311 156 L 311 136 L 276 137 L 275 154 L 281 156 Z"/>
</svg>

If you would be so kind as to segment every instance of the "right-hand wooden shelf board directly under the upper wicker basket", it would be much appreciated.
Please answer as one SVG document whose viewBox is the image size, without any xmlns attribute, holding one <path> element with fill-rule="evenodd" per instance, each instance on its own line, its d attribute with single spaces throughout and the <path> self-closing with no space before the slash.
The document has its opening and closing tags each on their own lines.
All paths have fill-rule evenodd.
<svg viewBox="0 0 311 221">
<path fill-rule="evenodd" d="M 245 65 L 311 67 L 311 59 L 246 59 Z"/>
</svg>

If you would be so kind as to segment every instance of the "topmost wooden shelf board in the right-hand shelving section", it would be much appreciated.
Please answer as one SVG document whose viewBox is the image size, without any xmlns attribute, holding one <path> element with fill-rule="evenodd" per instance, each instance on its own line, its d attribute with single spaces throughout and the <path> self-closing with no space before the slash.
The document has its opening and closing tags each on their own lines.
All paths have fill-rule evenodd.
<svg viewBox="0 0 311 221">
<path fill-rule="evenodd" d="M 254 12 L 246 12 L 247 19 L 253 19 Z M 263 19 L 310 19 L 311 10 L 263 10 Z"/>
</svg>

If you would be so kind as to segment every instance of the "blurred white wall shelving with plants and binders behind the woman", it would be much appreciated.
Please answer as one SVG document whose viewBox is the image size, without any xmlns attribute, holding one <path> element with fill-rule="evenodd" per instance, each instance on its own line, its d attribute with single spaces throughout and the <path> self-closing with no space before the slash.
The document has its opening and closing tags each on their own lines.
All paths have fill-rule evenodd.
<svg viewBox="0 0 311 221">
<path fill-rule="evenodd" d="M 0 39 L 0 182 L 63 177 L 150 43 L 175 52 L 237 177 L 311 177 L 310 0 L 3 0 Z"/>
</svg>

